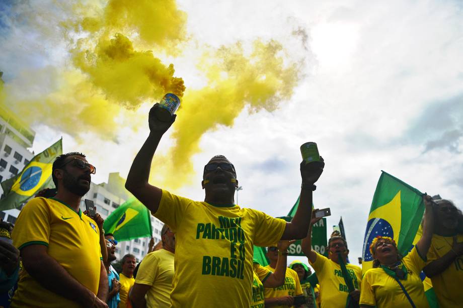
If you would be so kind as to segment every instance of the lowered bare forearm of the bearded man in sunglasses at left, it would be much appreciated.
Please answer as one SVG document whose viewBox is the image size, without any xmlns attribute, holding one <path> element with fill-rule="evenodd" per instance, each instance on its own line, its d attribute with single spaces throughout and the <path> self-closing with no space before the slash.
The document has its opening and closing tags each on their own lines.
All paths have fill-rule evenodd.
<svg viewBox="0 0 463 308">
<path fill-rule="evenodd" d="M 26 246 L 21 249 L 21 258 L 27 272 L 44 288 L 69 300 L 79 302 L 85 307 L 108 306 L 50 257 L 47 253 L 47 246 Z"/>
</svg>

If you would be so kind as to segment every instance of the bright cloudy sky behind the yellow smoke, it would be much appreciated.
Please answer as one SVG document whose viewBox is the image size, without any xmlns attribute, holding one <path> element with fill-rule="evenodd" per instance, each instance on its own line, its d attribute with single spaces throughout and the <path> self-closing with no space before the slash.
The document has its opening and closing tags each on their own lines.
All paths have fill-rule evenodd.
<svg viewBox="0 0 463 308">
<path fill-rule="evenodd" d="M 235 164 L 243 187 L 240 205 L 283 216 L 300 191 L 299 146 L 314 141 L 326 161 L 314 202 L 331 208 L 328 226 L 342 216 L 354 259 L 361 256 L 381 170 L 423 192 L 453 199 L 461 208 L 461 2 L 178 1 L 177 6 L 186 13 L 188 39 L 179 45 L 181 51 L 158 54 L 157 46 L 143 48 L 173 63 L 187 91 L 204 86 L 207 72 L 196 65 L 201 50 L 236 42 L 246 49 L 258 39 L 279 42 L 284 62 L 296 63 L 298 79 L 292 95 L 278 97 L 276 109 L 247 106 L 230 125 L 206 130 L 189 157 L 194 171 L 172 188 L 176 193 L 203 199 L 203 165 L 224 154 Z M 64 4 L 46 1 L 7 1 L 0 8 L 0 70 L 6 86 L 15 99 L 54 91 L 56 71 L 72 66 L 69 41 L 59 24 L 72 13 Z M 6 104 L 14 109 L 15 99 Z M 222 103 L 213 102 L 213 116 L 228 112 Z M 46 121 L 43 115 L 28 118 L 37 132 L 33 150 L 42 151 L 63 136 L 65 152 L 81 150 L 97 166 L 95 182 L 106 181 L 109 172 L 125 177 L 147 136 L 151 105 L 144 101 L 132 109 L 135 123 L 124 118 L 111 138 L 95 128 L 87 131 L 79 119 L 75 127 L 80 132 L 69 132 L 54 122 L 62 114 L 48 109 Z M 67 111 L 72 113 L 72 105 Z M 182 116 L 183 124 L 196 117 L 179 112 L 178 119 Z M 104 117 L 99 114 L 92 123 Z M 173 129 L 182 130 L 176 124 Z M 173 146 L 171 133 L 160 153 Z M 175 177 L 170 172 L 160 176 Z"/>
</svg>

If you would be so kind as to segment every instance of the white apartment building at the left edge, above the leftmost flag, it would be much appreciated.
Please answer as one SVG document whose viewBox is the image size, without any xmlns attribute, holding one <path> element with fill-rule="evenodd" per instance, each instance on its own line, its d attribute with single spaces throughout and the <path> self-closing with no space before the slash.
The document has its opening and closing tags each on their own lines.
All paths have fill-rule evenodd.
<svg viewBox="0 0 463 308">
<path fill-rule="evenodd" d="M 0 106 L 0 182 L 17 175 L 34 157 L 34 153 L 28 150 L 34 137 L 35 132 L 29 125 Z M 0 191 L 3 194 L 1 187 Z M 20 210 L 0 211 L 0 217 L 14 224 Z"/>
</svg>

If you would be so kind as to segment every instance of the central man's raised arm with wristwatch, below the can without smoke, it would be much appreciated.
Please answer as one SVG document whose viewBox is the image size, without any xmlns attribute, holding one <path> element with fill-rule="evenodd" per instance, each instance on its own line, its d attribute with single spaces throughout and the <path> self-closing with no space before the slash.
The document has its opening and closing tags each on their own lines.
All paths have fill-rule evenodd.
<svg viewBox="0 0 463 308">
<path fill-rule="evenodd" d="M 314 161 L 305 164 L 304 161 L 300 163 L 300 175 L 302 178 L 302 185 L 299 197 L 299 206 L 297 207 L 296 214 L 290 223 L 286 223 L 281 240 L 302 239 L 307 235 L 307 230 L 312 219 L 312 194 L 314 184 L 322 175 L 325 162 L 322 157 L 321 161 Z"/>
</svg>

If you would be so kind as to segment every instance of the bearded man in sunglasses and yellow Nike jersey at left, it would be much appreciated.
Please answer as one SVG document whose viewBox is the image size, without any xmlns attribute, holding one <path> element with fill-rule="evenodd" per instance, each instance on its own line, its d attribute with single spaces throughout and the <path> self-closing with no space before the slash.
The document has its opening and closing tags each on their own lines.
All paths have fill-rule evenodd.
<svg viewBox="0 0 463 308">
<path fill-rule="evenodd" d="M 107 307 L 108 277 L 97 223 L 79 209 L 96 168 L 72 152 L 53 162 L 53 198 L 31 199 L 16 221 L 13 244 L 24 271 L 12 307 Z"/>
</svg>

